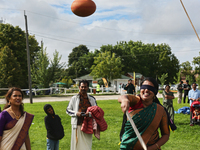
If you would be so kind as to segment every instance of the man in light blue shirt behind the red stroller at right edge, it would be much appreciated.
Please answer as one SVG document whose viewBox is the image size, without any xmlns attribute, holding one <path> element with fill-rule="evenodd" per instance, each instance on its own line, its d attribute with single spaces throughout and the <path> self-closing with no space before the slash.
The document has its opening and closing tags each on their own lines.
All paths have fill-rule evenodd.
<svg viewBox="0 0 200 150">
<path fill-rule="evenodd" d="M 197 84 L 192 83 L 192 89 L 188 93 L 188 98 L 190 100 L 190 106 L 194 101 L 200 100 L 200 91 L 197 89 Z M 194 126 L 194 122 L 192 121 L 192 111 L 190 111 L 190 126 Z"/>
</svg>

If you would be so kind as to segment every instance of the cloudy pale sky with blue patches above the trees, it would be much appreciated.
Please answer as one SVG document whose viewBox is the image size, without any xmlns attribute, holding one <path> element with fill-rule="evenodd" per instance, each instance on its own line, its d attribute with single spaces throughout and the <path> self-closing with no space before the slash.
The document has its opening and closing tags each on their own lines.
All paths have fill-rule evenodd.
<svg viewBox="0 0 200 150">
<path fill-rule="evenodd" d="M 182 0 L 200 36 L 200 0 Z M 0 0 L 0 18 L 43 40 L 47 53 L 59 51 L 62 62 L 80 44 L 90 51 L 119 41 L 168 44 L 180 63 L 199 56 L 200 42 L 180 0 L 94 0 L 89 17 L 71 12 L 73 0 Z"/>
</svg>

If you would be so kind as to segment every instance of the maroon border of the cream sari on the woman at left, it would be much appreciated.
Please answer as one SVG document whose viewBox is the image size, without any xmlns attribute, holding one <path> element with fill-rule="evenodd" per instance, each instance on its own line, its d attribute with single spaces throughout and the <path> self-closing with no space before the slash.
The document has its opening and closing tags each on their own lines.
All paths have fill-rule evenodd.
<svg viewBox="0 0 200 150">
<path fill-rule="evenodd" d="M 18 135 L 13 147 L 12 147 L 12 150 L 17 150 L 17 149 L 21 148 L 21 146 L 23 145 L 23 143 L 26 140 L 26 137 L 28 135 L 28 130 L 33 121 L 34 115 L 29 114 L 27 112 L 25 112 L 25 113 L 26 113 L 26 118 L 25 118 L 24 124 L 22 126 L 21 131 L 19 132 L 19 135 Z"/>
</svg>

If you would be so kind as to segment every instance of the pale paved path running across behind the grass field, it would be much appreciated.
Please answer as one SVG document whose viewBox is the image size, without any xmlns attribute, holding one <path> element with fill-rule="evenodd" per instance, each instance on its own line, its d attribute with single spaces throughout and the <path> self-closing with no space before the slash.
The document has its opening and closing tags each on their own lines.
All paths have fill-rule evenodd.
<svg viewBox="0 0 200 150">
<path fill-rule="evenodd" d="M 117 100 L 120 95 L 98 95 L 94 96 L 96 100 Z M 174 95 L 177 97 L 177 94 Z M 33 103 L 37 102 L 54 102 L 54 101 L 69 101 L 72 96 L 68 97 L 34 97 Z M 162 94 L 157 94 L 158 98 L 162 98 Z M 30 103 L 29 98 L 23 100 L 24 103 Z M 5 104 L 5 99 L 0 99 L 0 104 Z"/>
</svg>

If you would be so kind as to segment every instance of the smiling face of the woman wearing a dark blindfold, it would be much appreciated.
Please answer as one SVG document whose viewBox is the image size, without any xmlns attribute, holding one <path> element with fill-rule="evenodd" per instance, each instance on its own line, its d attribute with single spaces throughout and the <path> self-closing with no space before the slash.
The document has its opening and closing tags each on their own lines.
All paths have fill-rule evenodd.
<svg viewBox="0 0 200 150">
<path fill-rule="evenodd" d="M 150 85 L 150 86 L 154 87 L 153 83 L 148 80 L 145 80 L 142 85 Z M 155 94 L 148 89 L 141 89 L 140 96 L 143 101 L 146 101 L 146 102 L 152 101 L 153 102 Z"/>
</svg>

